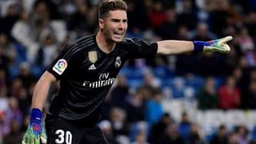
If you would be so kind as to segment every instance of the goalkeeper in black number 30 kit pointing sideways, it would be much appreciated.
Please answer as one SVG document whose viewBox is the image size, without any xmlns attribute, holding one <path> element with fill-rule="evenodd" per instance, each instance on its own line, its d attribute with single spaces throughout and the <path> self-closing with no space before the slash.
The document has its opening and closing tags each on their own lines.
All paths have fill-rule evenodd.
<svg viewBox="0 0 256 144">
<path fill-rule="evenodd" d="M 97 35 L 86 36 L 60 52 L 40 77 L 32 100 L 31 120 L 22 143 L 108 143 L 97 123 L 100 111 L 115 77 L 125 61 L 152 58 L 156 54 L 191 51 L 228 53 L 228 36 L 211 42 L 166 40 L 144 42 L 124 38 L 127 5 L 122 0 L 104 0 L 99 6 Z M 60 90 L 52 101 L 42 126 L 42 108 L 52 83 Z"/>
</svg>

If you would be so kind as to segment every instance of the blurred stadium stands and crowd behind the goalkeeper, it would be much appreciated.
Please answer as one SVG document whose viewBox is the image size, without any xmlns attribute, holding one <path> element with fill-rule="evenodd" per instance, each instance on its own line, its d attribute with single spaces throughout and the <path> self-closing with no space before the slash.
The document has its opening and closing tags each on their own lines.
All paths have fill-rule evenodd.
<svg viewBox="0 0 256 144">
<path fill-rule="evenodd" d="M 0 0 L 0 143 L 20 143 L 36 81 L 64 45 L 97 32 L 100 0 Z M 256 143 L 256 1 L 127 0 L 127 36 L 212 40 L 230 54 L 132 60 L 102 111 L 109 143 Z M 179 49 L 179 47 L 177 47 Z M 45 110 L 58 84 L 52 86 Z"/>
</svg>

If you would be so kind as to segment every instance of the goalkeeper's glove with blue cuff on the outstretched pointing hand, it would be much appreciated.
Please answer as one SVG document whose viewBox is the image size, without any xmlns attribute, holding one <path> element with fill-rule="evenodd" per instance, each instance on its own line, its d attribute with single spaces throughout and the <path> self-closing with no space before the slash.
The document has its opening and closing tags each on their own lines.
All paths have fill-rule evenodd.
<svg viewBox="0 0 256 144">
<path fill-rule="evenodd" d="M 230 47 L 226 42 L 232 40 L 232 36 L 227 36 L 225 38 L 220 38 L 218 40 L 211 40 L 209 42 L 194 42 L 194 51 L 204 51 L 204 52 L 221 52 L 228 54 Z"/>
</svg>

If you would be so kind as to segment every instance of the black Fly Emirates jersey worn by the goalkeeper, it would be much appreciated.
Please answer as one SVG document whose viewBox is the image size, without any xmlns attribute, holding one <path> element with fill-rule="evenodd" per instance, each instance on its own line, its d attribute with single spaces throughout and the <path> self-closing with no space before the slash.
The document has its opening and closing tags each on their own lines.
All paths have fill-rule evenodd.
<svg viewBox="0 0 256 144">
<path fill-rule="evenodd" d="M 60 90 L 48 114 L 83 124 L 97 124 L 102 102 L 125 61 L 152 58 L 156 52 L 156 42 L 137 38 L 125 38 L 109 54 L 99 49 L 96 35 L 68 44 L 47 69 L 60 80 Z"/>
</svg>

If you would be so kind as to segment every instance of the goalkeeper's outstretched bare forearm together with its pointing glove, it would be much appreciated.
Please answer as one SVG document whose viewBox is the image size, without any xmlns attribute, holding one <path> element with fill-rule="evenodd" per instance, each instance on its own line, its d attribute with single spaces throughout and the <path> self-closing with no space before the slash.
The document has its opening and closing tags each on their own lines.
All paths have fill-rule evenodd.
<svg viewBox="0 0 256 144">
<path fill-rule="evenodd" d="M 164 40 L 157 42 L 157 54 L 182 54 L 191 51 L 217 51 L 221 53 L 228 53 L 230 51 L 230 47 L 226 42 L 230 40 L 232 40 L 232 36 L 227 36 L 225 38 L 220 38 L 218 40 L 212 40 L 209 42 Z"/>
</svg>

